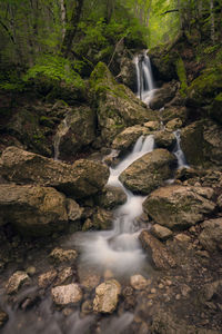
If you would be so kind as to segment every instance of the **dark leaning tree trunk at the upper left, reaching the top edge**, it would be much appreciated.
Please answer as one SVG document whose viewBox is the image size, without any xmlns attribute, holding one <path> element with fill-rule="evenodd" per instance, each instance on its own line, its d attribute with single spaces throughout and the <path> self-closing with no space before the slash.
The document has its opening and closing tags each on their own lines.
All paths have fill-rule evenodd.
<svg viewBox="0 0 222 334">
<path fill-rule="evenodd" d="M 84 0 L 77 0 L 72 8 L 71 19 L 69 22 L 69 27 L 65 30 L 62 47 L 61 47 L 61 52 L 65 58 L 69 56 L 72 48 L 72 41 L 77 33 L 78 23 L 80 21 L 80 17 L 82 13 L 83 2 Z"/>
</svg>

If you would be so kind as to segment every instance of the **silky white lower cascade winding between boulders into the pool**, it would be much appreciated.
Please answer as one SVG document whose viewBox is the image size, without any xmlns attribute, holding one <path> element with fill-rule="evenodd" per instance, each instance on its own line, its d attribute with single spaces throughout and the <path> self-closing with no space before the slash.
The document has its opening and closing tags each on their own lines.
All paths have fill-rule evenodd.
<svg viewBox="0 0 222 334">
<path fill-rule="evenodd" d="M 119 176 L 129 165 L 152 151 L 153 148 L 153 136 L 140 137 L 132 153 L 115 168 L 110 168 L 108 184 L 122 187 L 128 199 L 125 204 L 113 212 L 112 230 L 84 233 L 80 236 L 81 261 L 84 265 L 95 265 L 102 271 L 109 268 L 117 274 L 133 273 L 142 267 L 144 254 L 138 240 L 140 228 L 137 226 L 137 217 L 143 213 L 144 196 L 134 196 L 127 190 L 120 183 Z"/>
</svg>

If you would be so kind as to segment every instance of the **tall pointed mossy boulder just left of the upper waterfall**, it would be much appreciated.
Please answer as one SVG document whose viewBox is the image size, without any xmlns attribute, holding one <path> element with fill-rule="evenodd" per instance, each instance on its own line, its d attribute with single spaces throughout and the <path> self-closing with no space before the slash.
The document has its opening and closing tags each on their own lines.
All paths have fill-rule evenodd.
<svg viewBox="0 0 222 334">
<path fill-rule="evenodd" d="M 90 77 L 103 141 L 111 143 L 125 127 L 155 120 L 157 116 L 125 86 L 115 82 L 108 67 L 99 62 Z"/>
</svg>

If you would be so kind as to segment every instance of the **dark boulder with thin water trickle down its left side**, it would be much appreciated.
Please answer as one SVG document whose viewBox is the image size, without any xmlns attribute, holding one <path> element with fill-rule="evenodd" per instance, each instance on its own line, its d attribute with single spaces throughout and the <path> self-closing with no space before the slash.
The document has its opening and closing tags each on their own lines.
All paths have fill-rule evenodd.
<svg viewBox="0 0 222 334">
<path fill-rule="evenodd" d="M 95 114 L 87 106 L 70 110 L 64 120 L 58 127 L 56 140 L 59 143 L 59 156 L 61 159 L 70 157 L 82 149 L 85 149 L 95 139 Z M 61 136 L 63 135 L 63 136 Z"/>
</svg>

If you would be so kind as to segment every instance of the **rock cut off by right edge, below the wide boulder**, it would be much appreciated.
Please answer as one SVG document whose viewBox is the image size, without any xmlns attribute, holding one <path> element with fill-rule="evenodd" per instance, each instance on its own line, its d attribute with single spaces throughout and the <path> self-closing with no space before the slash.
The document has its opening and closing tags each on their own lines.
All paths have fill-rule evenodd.
<svg viewBox="0 0 222 334">
<path fill-rule="evenodd" d="M 209 252 L 222 250 L 222 218 L 205 220 L 201 227 L 203 230 L 199 240 L 203 248 Z"/>
</svg>

